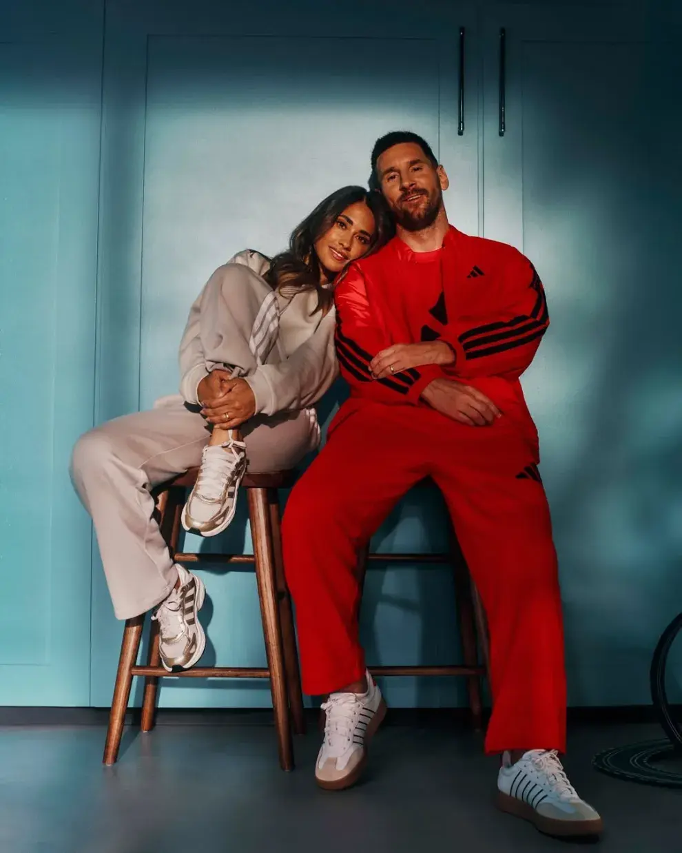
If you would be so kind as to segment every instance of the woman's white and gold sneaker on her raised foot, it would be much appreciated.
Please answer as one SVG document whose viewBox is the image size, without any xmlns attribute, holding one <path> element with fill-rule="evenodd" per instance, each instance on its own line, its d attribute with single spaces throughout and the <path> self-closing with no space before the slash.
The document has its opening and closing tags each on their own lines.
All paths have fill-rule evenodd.
<svg viewBox="0 0 682 853">
<path fill-rule="evenodd" d="M 182 510 L 182 526 L 201 536 L 217 536 L 234 519 L 237 491 L 246 472 L 246 444 L 206 446 L 199 476 Z"/>
</svg>

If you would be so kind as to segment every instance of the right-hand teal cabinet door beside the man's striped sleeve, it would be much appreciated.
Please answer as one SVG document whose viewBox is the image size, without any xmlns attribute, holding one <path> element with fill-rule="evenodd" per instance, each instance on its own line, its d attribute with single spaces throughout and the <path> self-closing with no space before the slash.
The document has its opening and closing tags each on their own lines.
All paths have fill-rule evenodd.
<svg viewBox="0 0 682 853">
<path fill-rule="evenodd" d="M 673 461 L 659 419 L 679 394 L 662 351 L 679 377 L 680 346 L 679 312 L 666 312 L 677 285 L 652 270 L 646 22 L 614 7 L 500 7 L 485 16 L 483 53 L 484 235 L 534 262 L 552 320 L 523 384 L 558 544 L 569 698 L 647 701 L 665 599 L 650 572 L 673 560 L 653 523 L 670 512 L 656 481 Z"/>
</svg>

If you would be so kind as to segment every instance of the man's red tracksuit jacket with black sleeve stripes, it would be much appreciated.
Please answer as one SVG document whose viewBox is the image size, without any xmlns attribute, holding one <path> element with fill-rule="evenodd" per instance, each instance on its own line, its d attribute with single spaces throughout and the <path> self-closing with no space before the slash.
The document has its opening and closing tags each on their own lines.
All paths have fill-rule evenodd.
<svg viewBox="0 0 682 853">
<path fill-rule="evenodd" d="M 518 421 L 537 456 L 537 432 L 519 377 L 549 317 L 542 282 L 521 252 L 452 226 L 436 252 L 413 252 L 395 237 L 350 266 L 334 300 L 338 362 L 351 389 L 338 422 L 362 399 L 425 405 L 419 395 L 444 376 L 477 387 Z M 454 364 L 373 380 L 368 365 L 379 351 L 434 339 L 453 346 Z"/>
</svg>

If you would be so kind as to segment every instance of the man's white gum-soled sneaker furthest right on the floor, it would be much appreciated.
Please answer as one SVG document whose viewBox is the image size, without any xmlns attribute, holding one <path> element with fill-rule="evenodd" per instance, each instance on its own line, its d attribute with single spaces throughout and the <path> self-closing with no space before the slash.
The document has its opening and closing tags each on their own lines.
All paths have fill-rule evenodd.
<svg viewBox="0 0 682 853">
<path fill-rule="evenodd" d="M 497 805 L 547 835 L 599 835 L 602 819 L 575 792 L 556 750 L 534 749 L 517 763 L 505 752 L 497 780 Z"/>
</svg>

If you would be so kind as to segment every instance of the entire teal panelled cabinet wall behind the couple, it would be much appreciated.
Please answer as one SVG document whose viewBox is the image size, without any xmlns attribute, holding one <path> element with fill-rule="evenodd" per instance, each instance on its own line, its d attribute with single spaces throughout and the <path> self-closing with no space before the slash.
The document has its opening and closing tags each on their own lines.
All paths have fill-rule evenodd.
<svg viewBox="0 0 682 853">
<path fill-rule="evenodd" d="M 577 15 L 433 3 L 435 26 L 411 4 L 387 16 L 359 3 L 330 29 L 308 0 L 260 0 L 238 17 L 209 0 L 108 0 L 106 15 L 77 0 L 15 6 L 0 3 L 0 613 L 12 638 L 0 703 L 108 704 L 121 625 L 68 481 L 73 442 L 175 392 L 176 346 L 211 271 L 245 246 L 282 247 L 323 194 L 367 178 L 373 139 L 400 125 L 435 143 L 451 220 L 522 248 L 546 282 L 552 330 L 525 387 L 561 560 L 570 701 L 647 702 L 656 637 L 682 606 L 674 21 L 599 4 Z M 322 403 L 325 421 L 342 394 Z M 251 548 L 243 511 L 226 538 Z M 374 544 L 446 543 L 440 500 L 419 489 Z M 205 576 L 206 662 L 263 663 L 254 577 Z M 446 569 L 373 569 L 369 659 L 454 659 L 453 612 Z M 454 705 L 463 688 L 401 679 L 387 693 Z M 269 692 L 166 682 L 161 704 L 269 705 Z"/>
</svg>

